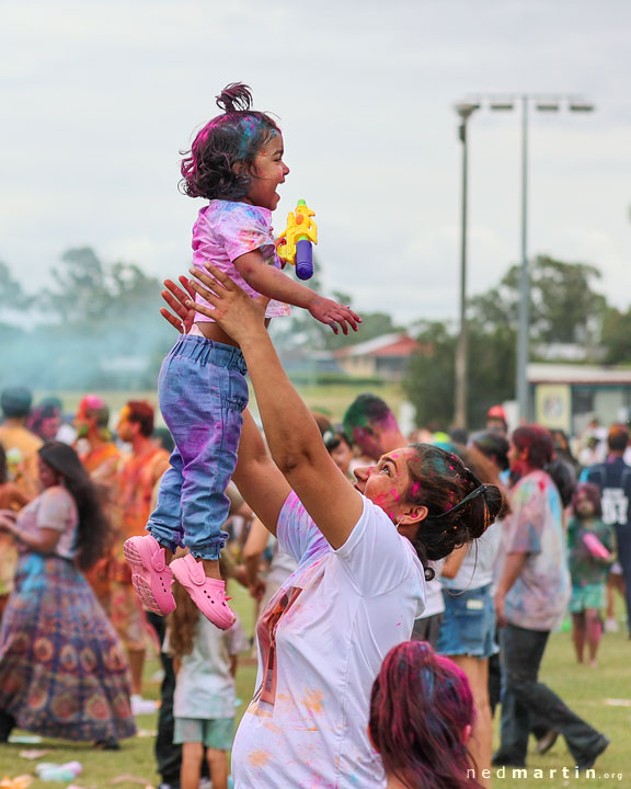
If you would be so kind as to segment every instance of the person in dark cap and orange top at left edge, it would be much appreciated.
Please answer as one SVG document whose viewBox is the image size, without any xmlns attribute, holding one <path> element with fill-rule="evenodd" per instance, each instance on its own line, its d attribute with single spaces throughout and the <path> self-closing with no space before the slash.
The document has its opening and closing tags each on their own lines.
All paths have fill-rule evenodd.
<svg viewBox="0 0 631 789">
<path fill-rule="evenodd" d="M 0 444 L 7 453 L 10 476 L 28 498 L 39 493 L 37 450 L 42 438 L 26 427 L 33 396 L 24 387 L 11 387 L 0 395 L 3 423 L 0 425 Z"/>
</svg>

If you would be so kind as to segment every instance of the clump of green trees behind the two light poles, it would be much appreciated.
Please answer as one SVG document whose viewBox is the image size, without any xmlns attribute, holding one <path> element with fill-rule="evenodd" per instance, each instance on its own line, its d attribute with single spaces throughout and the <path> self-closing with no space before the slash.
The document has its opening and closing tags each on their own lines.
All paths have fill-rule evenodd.
<svg viewBox="0 0 631 789">
<path fill-rule="evenodd" d="M 603 340 L 610 345 L 609 359 L 631 361 L 631 313 L 607 308 L 594 290 L 597 268 L 537 258 L 531 267 L 531 340 L 540 343 L 581 342 L 588 346 Z M 490 405 L 515 395 L 515 345 L 519 304 L 519 268 L 513 266 L 500 283 L 470 300 L 468 423 L 482 425 Z M 416 408 L 418 424 L 454 418 L 455 354 L 457 332 L 445 323 L 426 324 L 418 341 L 431 348 L 410 365 L 404 382 Z"/>
</svg>

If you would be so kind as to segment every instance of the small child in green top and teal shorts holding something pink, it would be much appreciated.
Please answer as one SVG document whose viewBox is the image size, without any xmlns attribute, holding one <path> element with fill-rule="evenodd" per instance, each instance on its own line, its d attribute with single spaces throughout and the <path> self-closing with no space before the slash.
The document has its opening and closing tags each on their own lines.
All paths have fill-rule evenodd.
<svg viewBox="0 0 631 789">
<path fill-rule="evenodd" d="M 603 634 L 600 611 L 606 606 L 606 586 L 613 557 L 613 526 L 600 521 L 600 490 L 582 482 L 572 500 L 573 517 L 567 526 L 570 575 L 572 578 L 572 639 L 576 660 L 583 663 L 585 641 L 589 665 L 596 666 L 596 653 Z"/>
</svg>

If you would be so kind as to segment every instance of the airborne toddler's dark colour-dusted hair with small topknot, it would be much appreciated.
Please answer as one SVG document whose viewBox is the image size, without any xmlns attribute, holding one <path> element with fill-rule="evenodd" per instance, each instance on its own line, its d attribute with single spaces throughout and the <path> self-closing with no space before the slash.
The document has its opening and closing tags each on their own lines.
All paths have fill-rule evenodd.
<svg viewBox="0 0 631 789">
<path fill-rule="evenodd" d="M 222 115 L 197 133 L 182 160 L 181 191 L 190 197 L 237 201 L 248 194 L 256 155 L 280 133 L 265 113 L 252 110 L 252 93 L 242 82 L 217 96 Z"/>
</svg>

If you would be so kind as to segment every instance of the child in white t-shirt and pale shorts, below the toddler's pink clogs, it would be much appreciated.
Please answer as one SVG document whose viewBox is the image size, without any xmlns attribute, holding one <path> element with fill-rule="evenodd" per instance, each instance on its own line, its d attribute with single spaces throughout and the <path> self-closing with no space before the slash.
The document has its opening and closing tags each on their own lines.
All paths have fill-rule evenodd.
<svg viewBox="0 0 631 789">
<path fill-rule="evenodd" d="M 239 619 L 225 632 L 200 615 L 180 584 L 164 651 L 176 674 L 174 743 L 182 744 L 181 789 L 198 789 L 204 754 L 213 789 L 228 787 L 228 751 L 234 735 L 234 674 L 249 642 Z"/>
</svg>

